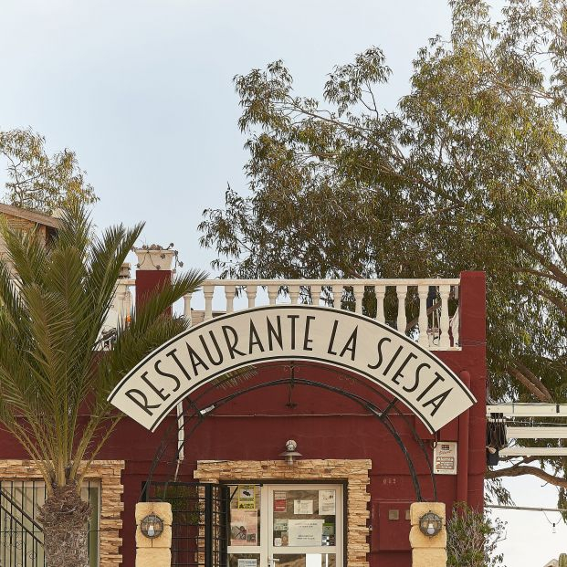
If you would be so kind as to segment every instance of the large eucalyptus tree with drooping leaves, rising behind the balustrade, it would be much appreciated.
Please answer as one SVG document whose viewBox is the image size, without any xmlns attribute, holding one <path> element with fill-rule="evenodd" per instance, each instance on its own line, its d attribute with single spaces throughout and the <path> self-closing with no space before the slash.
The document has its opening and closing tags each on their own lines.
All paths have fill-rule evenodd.
<svg viewBox="0 0 567 567">
<path fill-rule="evenodd" d="M 566 402 L 567 5 L 453 0 L 450 37 L 419 50 L 407 95 L 371 47 L 332 69 L 322 99 L 276 61 L 236 76 L 249 193 L 228 187 L 201 242 L 223 275 L 488 275 L 494 399 Z M 567 502 L 566 459 L 535 474 Z"/>
</svg>

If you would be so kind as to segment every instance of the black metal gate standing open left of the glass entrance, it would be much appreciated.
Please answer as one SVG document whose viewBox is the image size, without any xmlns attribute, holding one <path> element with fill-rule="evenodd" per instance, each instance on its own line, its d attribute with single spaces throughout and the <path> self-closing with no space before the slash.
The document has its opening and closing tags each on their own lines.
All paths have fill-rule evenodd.
<svg viewBox="0 0 567 567">
<path fill-rule="evenodd" d="M 198 482 L 154 482 L 147 499 L 172 505 L 172 566 L 227 567 L 228 488 Z"/>
</svg>

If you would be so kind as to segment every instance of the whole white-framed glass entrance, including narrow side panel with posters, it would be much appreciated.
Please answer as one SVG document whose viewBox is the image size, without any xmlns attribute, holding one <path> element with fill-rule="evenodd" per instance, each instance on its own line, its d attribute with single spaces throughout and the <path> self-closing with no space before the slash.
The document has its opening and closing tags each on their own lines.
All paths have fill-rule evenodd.
<svg viewBox="0 0 567 567">
<path fill-rule="evenodd" d="M 231 485 L 228 567 L 342 567 L 342 487 Z"/>
</svg>

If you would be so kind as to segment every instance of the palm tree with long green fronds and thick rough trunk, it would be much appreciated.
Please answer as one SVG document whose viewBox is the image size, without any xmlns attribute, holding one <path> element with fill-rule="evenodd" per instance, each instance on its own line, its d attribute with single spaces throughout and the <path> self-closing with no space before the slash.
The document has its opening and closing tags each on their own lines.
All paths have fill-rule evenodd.
<svg viewBox="0 0 567 567">
<path fill-rule="evenodd" d="M 142 225 L 93 236 L 85 208 L 69 205 L 49 247 L 33 232 L 0 230 L 7 248 L 0 260 L 0 423 L 45 479 L 47 564 L 88 567 L 89 504 L 79 490 L 121 419 L 106 398 L 144 355 L 184 331 L 187 322 L 167 308 L 205 274 L 190 271 L 163 286 L 119 325 L 110 352 L 101 352 L 116 281 Z"/>
</svg>

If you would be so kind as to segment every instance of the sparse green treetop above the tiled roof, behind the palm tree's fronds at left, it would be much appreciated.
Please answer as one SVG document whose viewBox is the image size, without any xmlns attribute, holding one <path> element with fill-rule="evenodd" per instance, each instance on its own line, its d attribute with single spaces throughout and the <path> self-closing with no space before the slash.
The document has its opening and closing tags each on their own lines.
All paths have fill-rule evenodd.
<svg viewBox="0 0 567 567">
<path fill-rule="evenodd" d="M 31 129 L 0 131 L 8 203 L 50 214 L 68 202 L 97 201 L 75 152 L 66 148 L 49 156 L 45 146 L 45 138 Z"/>
</svg>

